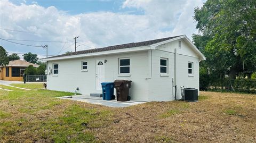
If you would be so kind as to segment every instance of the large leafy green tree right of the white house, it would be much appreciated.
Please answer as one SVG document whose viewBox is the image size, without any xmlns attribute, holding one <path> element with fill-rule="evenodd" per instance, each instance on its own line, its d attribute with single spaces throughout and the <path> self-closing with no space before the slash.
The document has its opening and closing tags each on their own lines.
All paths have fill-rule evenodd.
<svg viewBox="0 0 256 143">
<path fill-rule="evenodd" d="M 256 69 L 256 1 L 209 0 L 195 9 L 195 45 L 206 56 L 205 65 L 230 79 Z"/>
</svg>

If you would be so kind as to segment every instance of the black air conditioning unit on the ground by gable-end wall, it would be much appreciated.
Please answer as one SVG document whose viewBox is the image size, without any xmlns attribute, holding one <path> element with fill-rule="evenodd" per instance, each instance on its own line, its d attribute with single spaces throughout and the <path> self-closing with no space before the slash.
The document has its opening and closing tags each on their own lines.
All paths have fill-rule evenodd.
<svg viewBox="0 0 256 143">
<path fill-rule="evenodd" d="M 187 102 L 198 101 L 198 91 L 195 88 L 184 88 L 184 98 Z"/>
</svg>

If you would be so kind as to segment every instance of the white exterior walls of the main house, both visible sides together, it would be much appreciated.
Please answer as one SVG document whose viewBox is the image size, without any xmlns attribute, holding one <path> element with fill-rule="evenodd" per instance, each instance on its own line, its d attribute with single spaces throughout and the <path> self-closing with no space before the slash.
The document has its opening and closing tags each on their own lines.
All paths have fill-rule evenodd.
<svg viewBox="0 0 256 143">
<path fill-rule="evenodd" d="M 47 75 L 47 89 L 74 92 L 90 95 L 102 92 L 96 89 L 96 61 L 105 63 L 105 82 L 116 79 L 132 80 L 130 96 L 132 100 L 169 101 L 174 100 L 174 49 L 177 48 L 177 98 L 181 98 L 181 86 L 199 89 L 199 56 L 192 45 L 181 40 L 171 41 L 140 52 L 126 52 L 101 56 L 77 57 L 66 60 L 48 61 L 52 69 L 53 63 L 59 64 L 59 74 Z M 118 58 L 130 58 L 130 76 L 118 74 Z M 168 73 L 160 73 L 160 59 L 168 58 Z M 83 72 L 82 61 L 87 61 L 87 71 Z M 193 62 L 193 76 L 188 75 L 188 62 Z M 52 71 L 53 73 L 53 71 Z M 199 92 L 198 92 L 199 94 Z M 116 95 L 116 91 L 115 91 Z"/>
</svg>

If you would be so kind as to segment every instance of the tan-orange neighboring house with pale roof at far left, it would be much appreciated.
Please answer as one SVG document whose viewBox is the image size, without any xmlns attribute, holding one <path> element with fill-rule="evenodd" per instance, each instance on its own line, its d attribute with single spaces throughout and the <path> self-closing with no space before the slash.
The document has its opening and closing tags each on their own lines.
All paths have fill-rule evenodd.
<svg viewBox="0 0 256 143">
<path fill-rule="evenodd" d="M 29 65 L 33 65 L 35 68 L 39 67 L 37 64 L 22 60 L 10 61 L 8 65 L 0 67 L 0 79 L 9 81 L 23 81 L 23 73 Z"/>
</svg>

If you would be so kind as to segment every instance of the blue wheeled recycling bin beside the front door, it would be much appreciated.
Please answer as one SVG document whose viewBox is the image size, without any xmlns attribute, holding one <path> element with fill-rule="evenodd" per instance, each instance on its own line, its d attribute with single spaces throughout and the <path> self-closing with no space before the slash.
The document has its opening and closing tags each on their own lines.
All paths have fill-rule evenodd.
<svg viewBox="0 0 256 143">
<path fill-rule="evenodd" d="M 103 100 L 112 100 L 116 98 L 114 95 L 114 82 L 102 82 L 101 86 Z"/>
</svg>

